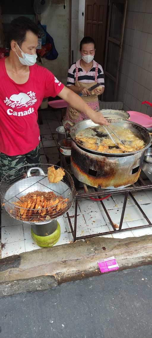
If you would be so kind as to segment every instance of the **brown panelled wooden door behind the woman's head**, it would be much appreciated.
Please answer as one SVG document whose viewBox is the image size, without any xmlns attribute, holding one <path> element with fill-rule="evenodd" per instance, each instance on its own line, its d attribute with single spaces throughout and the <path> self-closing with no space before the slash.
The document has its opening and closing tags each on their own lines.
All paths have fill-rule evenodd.
<svg viewBox="0 0 152 338">
<path fill-rule="evenodd" d="M 85 0 L 84 36 L 96 42 L 95 61 L 104 63 L 108 0 Z"/>
</svg>

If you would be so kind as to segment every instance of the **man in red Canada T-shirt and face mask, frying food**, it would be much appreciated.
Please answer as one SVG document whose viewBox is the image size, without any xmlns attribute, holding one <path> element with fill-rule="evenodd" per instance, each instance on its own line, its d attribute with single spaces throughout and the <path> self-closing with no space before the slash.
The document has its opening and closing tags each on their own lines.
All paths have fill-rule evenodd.
<svg viewBox="0 0 152 338">
<path fill-rule="evenodd" d="M 73 91 L 46 68 L 36 65 L 37 25 L 26 17 L 11 22 L 9 56 L 0 59 L 0 175 L 40 162 L 37 109 L 44 97 L 67 101 L 95 123 L 106 124 Z"/>
</svg>

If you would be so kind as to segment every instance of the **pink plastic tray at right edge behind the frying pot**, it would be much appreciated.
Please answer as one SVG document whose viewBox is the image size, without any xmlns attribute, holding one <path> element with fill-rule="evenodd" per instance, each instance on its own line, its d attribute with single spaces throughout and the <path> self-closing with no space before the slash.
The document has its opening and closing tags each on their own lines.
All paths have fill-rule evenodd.
<svg viewBox="0 0 152 338">
<path fill-rule="evenodd" d="M 129 120 L 135 123 L 138 123 L 142 125 L 145 128 L 152 127 L 152 117 L 139 113 L 139 112 L 133 112 L 133 111 L 128 111 L 130 118 Z"/>
</svg>

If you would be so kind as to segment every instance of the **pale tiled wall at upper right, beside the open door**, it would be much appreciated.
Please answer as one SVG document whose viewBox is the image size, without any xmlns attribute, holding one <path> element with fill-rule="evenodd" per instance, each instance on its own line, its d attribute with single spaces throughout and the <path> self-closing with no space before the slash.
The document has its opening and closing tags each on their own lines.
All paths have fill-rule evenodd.
<svg viewBox="0 0 152 338">
<path fill-rule="evenodd" d="M 118 100 L 125 110 L 152 116 L 152 1 L 128 0 Z"/>
</svg>

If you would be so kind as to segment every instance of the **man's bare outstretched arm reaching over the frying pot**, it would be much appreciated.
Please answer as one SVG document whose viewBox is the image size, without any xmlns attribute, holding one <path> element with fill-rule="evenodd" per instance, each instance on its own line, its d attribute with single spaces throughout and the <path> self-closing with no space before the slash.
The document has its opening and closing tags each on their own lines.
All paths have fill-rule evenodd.
<svg viewBox="0 0 152 338">
<path fill-rule="evenodd" d="M 106 119 L 103 117 L 103 115 L 99 112 L 95 112 L 93 109 L 91 109 L 82 99 L 80 96 L 75 94 L 73 91 L 68 89 L 67 87 L 64 87 L 61 92 L 58 94 L 58 96 L 68 102 L 72 107 L 78 109 L 79 111 L 83 112 L 90 118 L 94 123 L 98 124 L 108 124 Z"/>
</svg>

